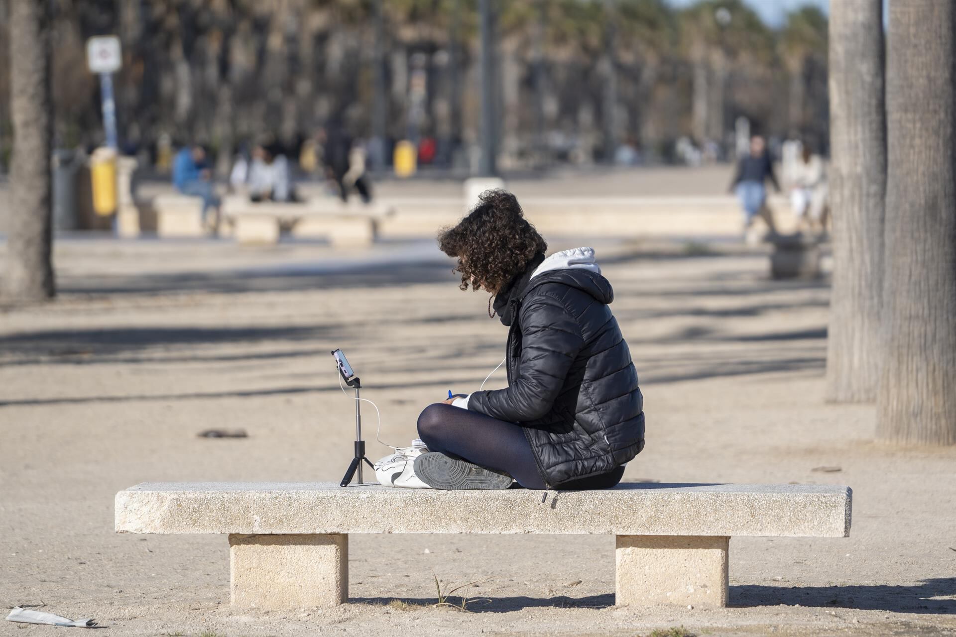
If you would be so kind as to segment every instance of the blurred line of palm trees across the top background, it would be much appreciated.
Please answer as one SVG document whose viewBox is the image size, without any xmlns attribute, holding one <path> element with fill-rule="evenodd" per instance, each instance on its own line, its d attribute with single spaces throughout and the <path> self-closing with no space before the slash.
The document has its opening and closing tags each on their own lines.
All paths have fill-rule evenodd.
<svg viewBox="0 0 956 637">
<path fill-rule="evenodd" d="M 0 0 L 0 18 L 16 1 Z M 332 125 L 386 143 L 431 138 L 447 165 L 467 164 L 479 136 L 476 0 L 50 1 L 58 146 L 101 141 L 85 41 L 105 33 L 122 41 L 128 152 L 153 153 L 166 136 L 228 161 L 243 142 L 292 147 Z M 742 0 L 496 7 L 502 168 L 607 160 L 621 144 L 666 161 L 682 137 L 719 158 L 737 117 L 826 150 L 827 19 L 815 8 L 771 29 Z M 10 146 L 8 72 L 0 58 L 0 149 Z"/>
</svg>

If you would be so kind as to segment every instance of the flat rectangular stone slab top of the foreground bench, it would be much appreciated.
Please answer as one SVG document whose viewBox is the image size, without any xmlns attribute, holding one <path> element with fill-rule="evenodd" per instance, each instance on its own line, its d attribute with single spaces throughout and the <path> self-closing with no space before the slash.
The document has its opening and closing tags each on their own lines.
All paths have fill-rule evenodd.
<svg viewBox="0 0 956 637">
<path fill-rule="evenodd" d="M 331 482 L 144 482 L 120 533 L 554 533 L 846 537 L 852 491 L 815 484 L 622 483 L 603 491 L 437 491 Z"/>
</svg>

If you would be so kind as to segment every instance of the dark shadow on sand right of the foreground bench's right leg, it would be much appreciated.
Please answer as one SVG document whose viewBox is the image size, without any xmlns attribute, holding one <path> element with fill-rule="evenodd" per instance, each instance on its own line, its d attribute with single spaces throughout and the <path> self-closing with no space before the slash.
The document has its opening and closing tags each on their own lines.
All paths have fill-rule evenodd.
<svg viewBox="0 0 956 637">
<path fill-rule="evenodd" d="M 734 606 L 801 605 L 920 614 L 956 611 L 956 599 L 933 599 L 953 595 L 956 595 L 956 578 L 935 578 L 908 586 L 730 586 L 730 603 Z"/>
</svg>

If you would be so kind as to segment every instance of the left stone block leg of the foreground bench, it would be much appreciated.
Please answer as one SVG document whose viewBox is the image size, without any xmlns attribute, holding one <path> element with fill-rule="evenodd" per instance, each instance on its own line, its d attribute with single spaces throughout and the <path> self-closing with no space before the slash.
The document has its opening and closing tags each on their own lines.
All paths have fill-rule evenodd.
<svg viewBox="0 0 956 637">
<path fill-rule="evenodd" d="M 349 599 L 349 537 L 229 535 L 234 606 L 303 608 Z"/>
</svg>

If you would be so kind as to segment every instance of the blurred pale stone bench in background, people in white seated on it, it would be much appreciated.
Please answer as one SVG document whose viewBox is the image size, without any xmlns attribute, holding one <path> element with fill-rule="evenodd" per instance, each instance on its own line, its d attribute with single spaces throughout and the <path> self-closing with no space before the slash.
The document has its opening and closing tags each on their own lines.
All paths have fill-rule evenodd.
<svg viewBox="0 0 956 637">
<path fill-rule="evenodd" d="M 293 237 L 324 238 L 336 247 L 367 247 L 375 243 L 379 220 L 390 214 L 380 204 L 332 198 L 250 202 L 247 197 L 227 197 L 223 202 L 223 216 L 240 244 L 275 244 L 287 229 Z"/>
</svg>

